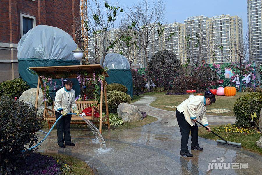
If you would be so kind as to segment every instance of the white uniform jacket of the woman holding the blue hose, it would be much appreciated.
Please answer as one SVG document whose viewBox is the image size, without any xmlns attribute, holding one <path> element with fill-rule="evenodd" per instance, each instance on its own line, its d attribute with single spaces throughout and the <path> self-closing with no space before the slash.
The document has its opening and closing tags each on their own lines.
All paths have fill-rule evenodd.
<svg viewBox="0 0 262 175">
<path fill-rule="evenodd" d="M 70 113 L 71 107 L 77 107 L 75 104 L 75 91 L 73 89 L 68 91 L 65 87 L 56 91 L 54 110 L 59 112 L 59 110 L 63 109 L 66 113 Z"/>
</svg>

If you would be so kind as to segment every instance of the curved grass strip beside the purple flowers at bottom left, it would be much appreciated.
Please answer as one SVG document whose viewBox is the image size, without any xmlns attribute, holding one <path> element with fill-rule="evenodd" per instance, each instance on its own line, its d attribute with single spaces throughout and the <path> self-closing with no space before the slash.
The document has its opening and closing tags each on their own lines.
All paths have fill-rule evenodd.
<svg viewBox="0 0 262 175">
<path fill-rule="evenodd" d="M 54 159 L 58 159 L 66 162 L 72 168 L 72 174 L 75 175 L 94 175 L 93 170 L 82 160 L 64 155 L 64 154 L 56 154 L 56 153 L 41 153 L 43 155 L 48 155 L 54 157 Z"/>
</svg>

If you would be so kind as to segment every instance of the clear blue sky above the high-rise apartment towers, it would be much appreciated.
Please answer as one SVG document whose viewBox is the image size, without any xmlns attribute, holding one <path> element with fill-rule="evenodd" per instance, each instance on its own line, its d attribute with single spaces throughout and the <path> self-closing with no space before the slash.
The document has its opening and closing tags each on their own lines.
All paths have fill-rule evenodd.
<svg viewBox="0 0 262 175">
<path fill-rule="evenodd" d="M 150 0 L 149 0 L 150 1 Z M 138 0 L 109 0 L 109 3 L 118 2 L 119 6 L 132 6 Z M 246 0 L 165 0 L 166 19 L 168 23 L 184 23 L 191 16 L 218 16 L 229 14 L 238 15 L 243 20 L 243 35 L 247 32 L 247 1 Z"/>
</svg>

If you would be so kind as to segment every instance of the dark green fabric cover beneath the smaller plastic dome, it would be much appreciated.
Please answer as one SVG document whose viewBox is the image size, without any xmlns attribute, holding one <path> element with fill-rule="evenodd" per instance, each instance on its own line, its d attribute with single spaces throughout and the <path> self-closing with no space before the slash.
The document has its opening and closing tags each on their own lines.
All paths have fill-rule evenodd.
<svg viewBox="0 0 262 175">
<path fill-rule="evenodd" d="M 133 98 L 133 80 L 130 69 L 110 69 L 107 71 L 109 77 L 106 77 L 107 84 L 119 83 L 128 88 L 126 92 Z"/>
</svg>

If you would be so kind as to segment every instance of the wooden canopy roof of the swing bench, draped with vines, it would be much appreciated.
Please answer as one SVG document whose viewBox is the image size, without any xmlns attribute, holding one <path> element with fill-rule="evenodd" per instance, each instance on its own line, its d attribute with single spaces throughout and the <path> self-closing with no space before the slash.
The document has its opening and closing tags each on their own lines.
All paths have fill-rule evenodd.
<svg viewBox="0 0 262 175">
<path fill-rule="evenodd" d="M 53 74 L 57 79 L 62 78 L 61 75 L 69 71 L 85 71 L 88 74 L 93 74 L 96 70 L 103 69 L 100 64 L 92 65 L 72 65 L 72 66 L 47 66 L 47 67 L 29 67 L 29 69 L 35 71 L 36 73 L 50 73 Z M 105 72 L 105 76 L 108 74 Z M 68 76 L 68 78 L 77 78 L 77 74 Z"/>
</svg>

